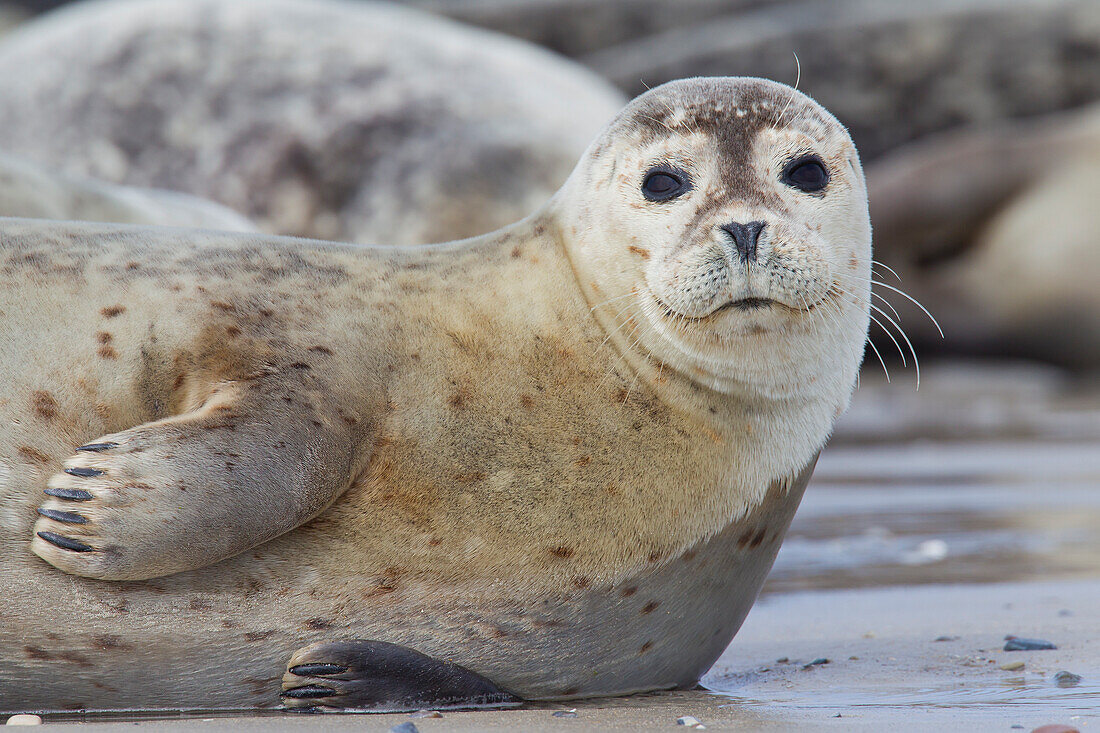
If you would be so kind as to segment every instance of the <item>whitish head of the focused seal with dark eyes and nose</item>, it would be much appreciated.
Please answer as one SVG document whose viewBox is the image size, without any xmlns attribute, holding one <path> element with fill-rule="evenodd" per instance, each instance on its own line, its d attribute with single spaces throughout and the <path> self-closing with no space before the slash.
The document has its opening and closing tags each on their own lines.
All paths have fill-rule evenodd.
<svg viewBox="0 0 1100 733">
<path fill-rule="evenodd" d="M 721 392 L 789 397 L 824 383 L 846 405 L 868 324 L 870 221 L 851 139 L 812 99 L 752 78 L 657 87 L 561 196 L 582 287 L 609 331 Z"/>
</svg>

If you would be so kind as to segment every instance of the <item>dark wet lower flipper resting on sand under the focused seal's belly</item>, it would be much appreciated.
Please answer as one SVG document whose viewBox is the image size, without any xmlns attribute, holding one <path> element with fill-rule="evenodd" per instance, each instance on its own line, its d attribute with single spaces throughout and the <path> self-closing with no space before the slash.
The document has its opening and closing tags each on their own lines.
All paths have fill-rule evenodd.
<svg viewBox="0 0 1100 733">
<path fill-rule="evenodd" d="M 408 712 L 516 708 L 522 699 L 481 675 L 398 644 L 319 642 L 294 653 L 283 675 L 290 710 Z"/>
</svg>

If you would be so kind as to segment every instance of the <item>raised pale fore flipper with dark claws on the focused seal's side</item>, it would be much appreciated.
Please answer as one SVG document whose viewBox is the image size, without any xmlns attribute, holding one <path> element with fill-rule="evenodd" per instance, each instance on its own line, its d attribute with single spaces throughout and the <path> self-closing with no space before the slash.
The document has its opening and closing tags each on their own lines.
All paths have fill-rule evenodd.
<svg viewBox="0 0 1100 733">
<path fill-rule="evenodd" d="M 332 391 L 299 390 L 300 371 L 223 384 L 194 411 L 76 448 L 44 489 L 32 551 L 72 575 L 144 580 L 317 516 L 351 483 L 360 438 Z"/>
</svg>

